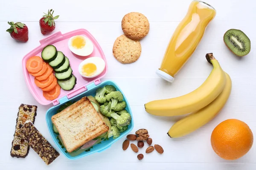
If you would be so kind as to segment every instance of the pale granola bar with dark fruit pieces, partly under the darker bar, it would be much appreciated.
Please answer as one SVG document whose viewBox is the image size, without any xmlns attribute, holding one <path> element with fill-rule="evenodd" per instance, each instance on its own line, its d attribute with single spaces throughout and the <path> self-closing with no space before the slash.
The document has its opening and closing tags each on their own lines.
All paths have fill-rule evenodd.
<svg viewBox="0 0 256 170">
<path fill-rule="evenodd" d="M 12 141 L 11 156 L 25 158 L 29 153 L 29 144 L 24 141 L 17 131 L 25 124 L 26 120 L 35 122 L 37 106 L 21 104 L 16 119 L 14 139 Z"/>
</svg>

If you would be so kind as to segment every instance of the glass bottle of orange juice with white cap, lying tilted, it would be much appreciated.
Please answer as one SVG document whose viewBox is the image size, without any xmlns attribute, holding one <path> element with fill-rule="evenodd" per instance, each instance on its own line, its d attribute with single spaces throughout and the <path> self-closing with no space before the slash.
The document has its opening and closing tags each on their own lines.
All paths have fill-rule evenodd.
<svg viewBox="0 0 256 170">
<path fill-rule="evenodd" d="M 197 0 L 191 2 L 186 16 L 172 35 L 157 75 L 173 82 L 175 74 L 193 54 L 215 15 L 215 9 L 209 4 Z"/>
</svg>

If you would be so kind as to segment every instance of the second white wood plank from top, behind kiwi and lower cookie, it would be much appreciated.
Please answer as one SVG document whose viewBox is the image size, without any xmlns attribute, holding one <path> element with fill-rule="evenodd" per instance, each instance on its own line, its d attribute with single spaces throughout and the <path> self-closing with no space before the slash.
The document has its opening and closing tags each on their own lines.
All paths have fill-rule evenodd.
<svg viewBox="0 0 256 170">
<path fill-rule="evenodd" d="M 223 22 L 219 22 L 219 25 L 221 24 L 223 24 Z M 224 26 L 227 27 L 229 24 L 232 24 L 232 22 L 225 23 Z M 29 22 L 28 26 L 29 30 L 31 30 L 29 31 L 29 41 L 26 43 L 18 43 L 5 32 L 8 26 L 6 22 L 0 22 L 0 36 L 3 37 L 2 40 L 5 42 L 2 44 L 0 52 L 6 55 L 8 62 L 12 60 L 15 67 L 19 68 L 14 70 L 16 71 L 15 74 L 18 74 L 21 71 L 20 61 L 22 57 L 33 48 L 37 47 L 39 40 L 43 39 L 45 36 L 41 34 L 37 22 Z M 116 37 L 122 34 L 120 23 L 75 23 L 75 26 L 72 27 L 70 27 L 70 23 L 58 23 L 58 27 L 54 33 L 61 31 L 64 34 L 79 28 L 86 28 L 90 31 L 101 45 L 106 59 L 108 60 L 109 71 L 106 77 L 157 77 L 155 71 L 160 67 L 166 47 L 172 36 L 172 31 L 174 31 L 176 26 L 177 22 L 151 23 L 150 34 L 141 41 L 142 54 L 140 59 L 130 65 L 120 64 L 112 55 L 113 42 Z M 255 74 L 251 73 L 255 73 L 255 70 L 252 68 L 256 64 L 256 60 L 253 57 L 256 44 L 252 43 L 250 54 L 240 59 L 234 56 L 224 45 L 222 40 L 224 33 L 217 35 L 218 32 L 226 31 L 228 27 L 225 29 L 223 27 L 209 26 L 208 28 L 197 50 L 186 63 L 186 67 L 183 67 L 177 74 L 176 80 L 181 77 L 206 77 L 212 69 L 205 59 L 205 54 L 209 52 L 215 55 L 223 69 L 231 74 L 232 77 L 241 78 L 254 76 Z M 253 27 L 244 27 L 244 29 L 248 30 L 251 39 L 256 39 L 256 34 L 253 34 Z M 12 51 L 12 53 L 10 53 L 10 51 Z M 230 72 L 230 70 L 234 69 L 236 70 L 236 72 L 234 72 L 235 74 L 233 74 L 232 71 Z M 127 72 L 129 72 L 129 74 L 126 74 Z"/>
</svg>

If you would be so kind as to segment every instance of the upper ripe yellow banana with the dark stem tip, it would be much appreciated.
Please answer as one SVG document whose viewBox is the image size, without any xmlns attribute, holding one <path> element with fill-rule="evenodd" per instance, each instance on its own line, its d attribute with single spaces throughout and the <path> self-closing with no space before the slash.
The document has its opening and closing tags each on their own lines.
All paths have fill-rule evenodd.
<svg viewBox="0 0 256 170">
<path fill-rule="evenodd" d="M 212 53 L 206 57 L 213 65 L 213 69 L 199 88 L 176 98 L 148 102 L 145 104 L 146 112 L 156 116 L 177 116 L 198 111 L 216 99 L 226 84 L 226 77 Z"/>
</svg>

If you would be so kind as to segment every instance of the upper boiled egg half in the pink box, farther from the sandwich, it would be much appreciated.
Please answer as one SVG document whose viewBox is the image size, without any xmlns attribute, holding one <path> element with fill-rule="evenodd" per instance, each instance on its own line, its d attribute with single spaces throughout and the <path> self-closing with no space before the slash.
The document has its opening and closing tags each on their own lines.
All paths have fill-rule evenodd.
<svg viewBox="0 0 256 170">
<path fill-rule="evenodd" d="M 88 56 L 93 52 L 93 42 L 82 35 L 76 35 L 69 39 L 68 48 L 79 56 Z"/>
</svg>

